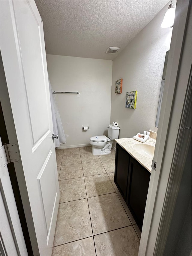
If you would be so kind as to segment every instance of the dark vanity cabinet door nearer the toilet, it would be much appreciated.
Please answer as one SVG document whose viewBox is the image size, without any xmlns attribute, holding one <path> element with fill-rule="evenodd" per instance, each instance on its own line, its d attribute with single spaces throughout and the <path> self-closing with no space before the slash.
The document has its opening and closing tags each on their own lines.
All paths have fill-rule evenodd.
<svg viewBox="0 0 192 256">
<path fill-rule="evenodd" d="M 117 185 L 124 200 L 127 194 L 129 154 L 119 144 L 116 144 L 116 160 L 115 160 L 115 184 Z"/>
</svg>

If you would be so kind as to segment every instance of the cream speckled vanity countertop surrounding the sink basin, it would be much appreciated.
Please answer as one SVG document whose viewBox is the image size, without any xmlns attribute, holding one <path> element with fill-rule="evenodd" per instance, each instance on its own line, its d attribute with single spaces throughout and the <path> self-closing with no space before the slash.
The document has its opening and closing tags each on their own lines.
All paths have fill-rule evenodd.
<svg viewBox="0 0 192 256">
<path fill-rule="evenodd" d="M 132 157 L 134 157 L 140 164 L 143 165 L 150 173 L 152 170 L 152 160 L 143 155 L 140 155 L 135 149 L 135 144 L 147 144 L 151 146 L 155 146 L 155 139 L 149 138 L 146 142 L 140 142 L 135 140 L 134 138 L 123 138 L 123 139 L 115 139 L 115 141 L 122 146 Z"/>
</svg>

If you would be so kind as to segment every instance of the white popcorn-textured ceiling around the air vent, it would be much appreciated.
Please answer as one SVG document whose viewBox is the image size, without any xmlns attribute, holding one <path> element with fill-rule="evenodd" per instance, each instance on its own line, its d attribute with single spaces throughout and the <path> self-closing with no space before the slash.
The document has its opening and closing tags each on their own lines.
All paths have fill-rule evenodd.
<svg viewBox="0 0 192 256">
<path fill-rule="evenodd" d="M 113 60 L 169 1 L 35 2 L 43 20 L 47 54 Z M 120 50 L 107 54 L 109 46 Z"/>
</svg>

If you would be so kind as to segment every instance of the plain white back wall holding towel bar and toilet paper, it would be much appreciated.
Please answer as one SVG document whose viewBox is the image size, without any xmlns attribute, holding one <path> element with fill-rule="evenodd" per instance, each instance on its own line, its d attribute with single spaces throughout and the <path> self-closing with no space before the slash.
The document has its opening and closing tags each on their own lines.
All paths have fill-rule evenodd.
<svg viewBox="0 0 192 256">
<path fill-rule="evenodd" d="M 110 124 L 112 61 L 47 55 L 47 68 L 54 91 L 80 92 L 56 95 L 67 143 L 64 147 L 89 144 L 89 138 L 107 135 Z M 82 131 L 82 126 L 88 126 Z"/>
</svg>

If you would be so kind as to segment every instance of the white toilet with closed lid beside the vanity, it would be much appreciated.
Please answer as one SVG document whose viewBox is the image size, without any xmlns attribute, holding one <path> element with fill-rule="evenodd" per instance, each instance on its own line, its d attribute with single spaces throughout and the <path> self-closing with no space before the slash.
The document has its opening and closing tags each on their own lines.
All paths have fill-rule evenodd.
<svg viewBox="0 0 192 256">
<path fill-rule="evenodd" d="M 105 135 L 91 137 L 90 144 L 92 145 L 93 155 L 108 155 L 111 153 L 111 148 L 114 139 L 119 138 L 119 127 L 109 125 L 108 137 Z"/>
</svg>

